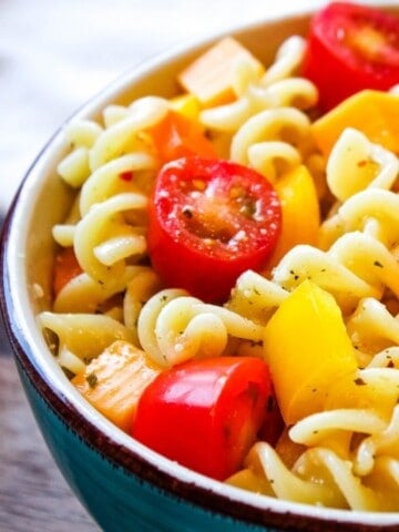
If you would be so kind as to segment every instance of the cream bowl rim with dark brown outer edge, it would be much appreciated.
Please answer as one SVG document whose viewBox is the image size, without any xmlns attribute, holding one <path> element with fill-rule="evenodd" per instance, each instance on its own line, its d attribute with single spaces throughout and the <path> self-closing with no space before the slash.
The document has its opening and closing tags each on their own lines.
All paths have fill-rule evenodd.
<svg viewBox="0 0 399 532">
<path fill-rule="evenodd" d="M 23 246 L 28 239 L 28 229 L 24 227 L 24 221 L 30 218 L 33 208 L 31 197 L 32 194 L 34 197 L 34 192 L 40 188 L 40 176 L 45 170 L 45 165 L 51 157 L 57 158 L 64 149 L 63 126 L 65 124 L 71 120 L 95 114 L 106 103 L 111 103 L 115 94 L 121 93 L 126 85 L 162 69 L 163 64 L 175 61 L 176 58 L 196 53 L 223 34 L 253 31 L 265 24 L 282 21 L 287 16 L 289 18 L 309 17 L 315 4 L 315 1 L 309 2 L 305 9 L 298 6 L 296 9 L 289 10 L 289 13 L 282 9 L 282 12 L 267 16 L 255 23 L 237 24 L 228 32 L 214 32 L 206 38 L 195 39 L 191 43 L 185 42 L 162 54 L 156 54 L 122 73 L 68 117 L 49 139 L 27 171 L 3 222 L 0 250 L 2 277 L 0 306 L 14 356 L 30 382 L 45 399 L 48 407 L 95 452 L 122 467 L 129 473 L 149 481 L 188 503 L 195 503 L 205 510 L 238 519 L 248 524 L 260 526 L 282 526 L 284 524 L 284 528 L 297 526 L 299 530 L 300 521 L 305 518 L 309 526 L 307 530 L 359 530 L 359 525 L 361 530 L 367 531 L 390 530 L 391 528 L 398 530 L 399 513 L 397 512 L 361 512 L 319 508 L 257 495 L 193 472 L 135 441 L 91 407 L 69 383 L 55 361 L 51 365 L 50 357 L 43 359 L 43 351 L 50 355 L 50 350 L 39 331 L 33 311 L 27 313 L 27 308 L 31 307 L 31 295 L 27 283 L 21 283 L 21 279 L 27 282 Z M 383 2 L 381 7 L 395 8 L 396 3 L 393 1 Z M 21 227 L 24 227 L 22 234 Z"/>
</svg>

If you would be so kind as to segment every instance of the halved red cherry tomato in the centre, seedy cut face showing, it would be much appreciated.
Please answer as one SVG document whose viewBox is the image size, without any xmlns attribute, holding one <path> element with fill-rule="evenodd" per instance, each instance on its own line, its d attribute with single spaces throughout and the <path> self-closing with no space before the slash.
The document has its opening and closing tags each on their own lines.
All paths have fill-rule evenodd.
<svg viewBox="0 0 399 532">
<path fill-rule="evenodd" d="M 150 205 L 147 244 L 168 286 L 225 300 L 246 269 L 260 269 L 280 231 L 268 181 L 228 161 L 185 157 L 161 170 Z"/>
</svg>

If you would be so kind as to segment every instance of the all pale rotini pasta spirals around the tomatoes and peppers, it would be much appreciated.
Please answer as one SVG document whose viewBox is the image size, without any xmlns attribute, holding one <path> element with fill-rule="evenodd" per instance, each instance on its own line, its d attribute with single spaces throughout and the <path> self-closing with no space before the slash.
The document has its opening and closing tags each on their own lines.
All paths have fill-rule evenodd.
<svg viewBox="0 0 399 532">
<path fill-rule="evenodd" d="M 129 106 L 110 105 L 102 124 L 81 121 L 65 129 L 72 149 L 58 172 L 76 198 L 53 236 L 60 246 L 73 247 L 82 272 L 66 279 L 39 324 L 71 375 L 84 371 L 115 340 L 145 351 L 160 371 L 192 359 L 265 358 L 265 328 L 290 295 L 311 282 L 332 296 L 357 370 L 330 383 L 324 409 L 285 427 L 276 444 L 257 441 L 226 482 L 307 504 L 398 511 L 399 161 L 351 126 L 328 156 L 321 153 L 313 131 L 318 90 L 298 74 L 304 53 L 305 40 L 294 37 L 263 73 L 249 60 L 238 62 L 234 101 L 198 105 L 196 114 L 192 94 L 146 96 Z M 244 270 L 222 304 L 170 286 L 151 266 L 149 209 L 163 163 L 151 129 L 172 110 L 185 119 L 195 114 L 195 127 L 217 156 L 227 153 L 273 184 L 306 166 L 321 206 L 315 245 L 299 242 L 270 270 Z M 173 135 L 182 135 L 176 124 Z M 203 190 L 200 175 L 187 197 L 202 197 Z M 241 190 L 234 193 L 252 216 L 256 205 L 243 200 Z M 176 209 L 171 216 L 177 217 Z M 205 231 L 201 216 L 193 221 L 190 202 L 183 216 L 187 225 L 197 224 L 194 233 L 208 247 L 228 239 L 215 237 L 217 228 Z M 227 216 L 222 204 L 217 216 Z M 236 245 L 247 235 L 242 231 L 234 238 Z"/>
</svg>

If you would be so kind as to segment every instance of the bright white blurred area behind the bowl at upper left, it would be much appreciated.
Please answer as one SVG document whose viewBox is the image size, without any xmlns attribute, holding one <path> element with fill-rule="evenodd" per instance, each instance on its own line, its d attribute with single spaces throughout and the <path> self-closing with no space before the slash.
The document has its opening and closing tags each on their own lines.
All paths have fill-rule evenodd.
<svg viewBox="0 0 399 532">
<path fill-rule="evenodd" d="M 53 131 L 120 73 L 184 41 L 298 8 L 298 1 L 2 0 L 0 213 Z"/>
</svg>

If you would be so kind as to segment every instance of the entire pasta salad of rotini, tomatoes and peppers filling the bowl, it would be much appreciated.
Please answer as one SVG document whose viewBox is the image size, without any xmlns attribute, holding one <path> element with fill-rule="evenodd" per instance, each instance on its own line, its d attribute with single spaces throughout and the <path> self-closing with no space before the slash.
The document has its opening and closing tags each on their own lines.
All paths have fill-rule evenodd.
<svg viewBox="0 0 399 532">
<path fill-rule="evenodd" d="M 176 96 L 65 126 L 38 319 L 121 430 L 245 490 L 399 510 L 398 35 L 330 3 L 272 64 L 226 37 Z"/>
</svg>

